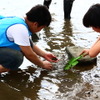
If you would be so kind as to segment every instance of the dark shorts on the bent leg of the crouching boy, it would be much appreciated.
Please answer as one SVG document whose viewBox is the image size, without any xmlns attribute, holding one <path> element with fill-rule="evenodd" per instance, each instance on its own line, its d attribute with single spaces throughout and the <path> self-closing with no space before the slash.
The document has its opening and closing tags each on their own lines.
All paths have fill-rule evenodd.
<svg viewBox="0 0 100 100">
<path fill-rule="evenodd" d="M 0 65 L 10 70 L 17 70 L 23 62 L 23 54 L 10 48 L 0 48 Z"/>
</svg>

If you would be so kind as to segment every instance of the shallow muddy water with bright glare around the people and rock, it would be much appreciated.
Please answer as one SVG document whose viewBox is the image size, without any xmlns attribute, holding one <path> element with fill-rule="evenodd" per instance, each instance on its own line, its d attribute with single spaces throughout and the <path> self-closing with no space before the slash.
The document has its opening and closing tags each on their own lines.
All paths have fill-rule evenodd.
<svg viewBox="0 0 100 100">
<path fill-rule="evenodd" d="M 25 59 L 19 71 L 1 74 L 0 100 L 100 100 L 99 63 L 63 70 L 68 60 L 67 46 L 89 48 L 98 37 L 98 33 L 82 25 L 87 9 L 98 2 L 75 0 L 71 20 L 64 21 L 62 0 L 53 0 L 50 6 L 53 21 L 49 28 L 38 33 L 40 39 L 36 44 L 61 60 L 53 63 L 54 70 L 47 71 Z M 0 14 L 23 16 L 38 3 L 43 0 L 3 0 Z"/>
</svg>

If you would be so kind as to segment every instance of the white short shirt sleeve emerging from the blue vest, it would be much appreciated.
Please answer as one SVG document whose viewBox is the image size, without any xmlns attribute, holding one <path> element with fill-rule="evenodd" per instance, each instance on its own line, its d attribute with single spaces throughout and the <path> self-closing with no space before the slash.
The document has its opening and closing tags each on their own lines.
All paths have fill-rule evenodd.
<svg viewBox="0 0 100 100">
<path fill-rule="evenodd" d="M 30 46 L 29 33 L 23 24 L 15 24 L 8 28 L 7 37 L 21 46 Z"/>
</svg>

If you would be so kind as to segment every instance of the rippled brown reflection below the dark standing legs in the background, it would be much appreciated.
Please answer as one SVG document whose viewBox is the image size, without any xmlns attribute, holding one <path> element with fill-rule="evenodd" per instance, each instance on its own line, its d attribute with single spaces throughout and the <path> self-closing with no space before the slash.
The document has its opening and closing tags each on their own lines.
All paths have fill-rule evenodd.
<svg viewBox="0 0 100 100">
<path fill-rule="evenodd" d="M 45 28 L 44 33 L 45 33 L 45 41 L 48 43 L 47 45 L 50 46 L 49 51 L 65 51 L 65 48 L 67 46 L 73 46 L 74 44 L 72 43 L 70 37 L 72 36 L 72 26 L 71 22 L 69 20 L 64 21 L 64 26 L 63 26 L 63 31 L 59 32 L 59 34 L 52 33 L 51 32 L 52 28 Z"/>
</svg>

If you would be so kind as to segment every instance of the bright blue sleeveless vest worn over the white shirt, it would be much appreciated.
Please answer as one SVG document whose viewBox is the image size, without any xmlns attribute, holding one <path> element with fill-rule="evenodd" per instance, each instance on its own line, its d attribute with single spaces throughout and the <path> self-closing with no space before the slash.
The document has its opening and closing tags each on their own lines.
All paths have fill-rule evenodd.
<svg viewBox="0 0 100 100">
<path fill-rule="evenodd" d="M 10 17 L 4 17 L 0 16 L 0 47 L 7 47 L 12 48 L 15 50 L 20 50 L 20 47 L 14 43 L 14 41 L 10 41 L 7 37 L 7 29 L 15 24 L 23 24 L 28 29 L 27 24 L 22 18 L 10 16 Z M 31 35 L 29 31 L 29 35 Z"/>
</svg>

